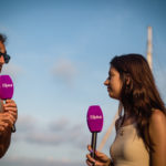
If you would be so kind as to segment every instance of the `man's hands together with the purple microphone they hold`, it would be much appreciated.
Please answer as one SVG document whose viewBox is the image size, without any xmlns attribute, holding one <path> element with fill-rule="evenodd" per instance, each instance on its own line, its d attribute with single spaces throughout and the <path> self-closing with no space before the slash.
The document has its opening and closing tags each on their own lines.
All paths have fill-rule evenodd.
<svg viewBox="0 0 166 166">
<path fill-rule="evenodd" d="M 1 110 L 0 113 L 0 132 L 6 132 L 7 128 L 12 128 L 15 132 L 14 123 L 18 117 L 17 104 L 11 100 L 13 95 L 13 83 L 9 75 L 0 75 L 0 98 Z M 4 101 L 4 103 L 3 103 Z"/>
</svg>

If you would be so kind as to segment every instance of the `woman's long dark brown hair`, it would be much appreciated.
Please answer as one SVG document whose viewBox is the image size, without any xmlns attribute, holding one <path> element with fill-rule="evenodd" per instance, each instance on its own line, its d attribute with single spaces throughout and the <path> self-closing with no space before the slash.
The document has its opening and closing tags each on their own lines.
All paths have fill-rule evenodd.
<svg viewBox="0 0 166 166">
<path fill-rule="evenodd" d="M 121 92 L 123 107 L 136 117 L 138 133 L 146 148 L 153 151 L 148 134 L 149 117 L 153 110 L 159 110 L 165 115 L 166 110 L 149 65 L 141 54 L 115 56 L 110 63 L 118 71 L 123 83 Z M 129 83 L 126 83 L 127 80 Z M 147 142 L 146 134 L 149 142 Z"/>
</svg>

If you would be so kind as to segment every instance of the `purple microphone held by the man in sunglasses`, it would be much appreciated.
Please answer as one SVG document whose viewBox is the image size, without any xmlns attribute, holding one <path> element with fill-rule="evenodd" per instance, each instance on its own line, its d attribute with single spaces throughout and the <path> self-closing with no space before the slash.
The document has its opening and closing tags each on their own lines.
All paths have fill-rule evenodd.
<svg viewBox="0 0 166 166">
<path fill-rule="evenodd" d="M 13 82 L 9 75 L 0 75 L 0 98 L 10 100 L 13 95 Z M 12 126 L 12 132 L 15 132 L 15 126 Z"/>
</svg>

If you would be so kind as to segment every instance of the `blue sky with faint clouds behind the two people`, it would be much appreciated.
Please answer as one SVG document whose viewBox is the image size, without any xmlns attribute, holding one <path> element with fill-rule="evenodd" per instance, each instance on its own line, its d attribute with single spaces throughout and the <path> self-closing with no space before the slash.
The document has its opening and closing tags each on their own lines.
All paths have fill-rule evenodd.
<svg viewBox="0 0 166 166">
<path fill-rule="evenodd" d="M 114 55 L 146 56 L 153 28 L 153 73 L 166 103 L 166 2 L 164 0 L 0 0 L 0 32 L 11 61 L 17 133 L 3 166 L 83 166 L 91 133 L 90 105 L 100 105 L 104 126 L 118 102 L 103 82 Z M 107 155 L 114 132 L 103 152 Z"/>
</svg>

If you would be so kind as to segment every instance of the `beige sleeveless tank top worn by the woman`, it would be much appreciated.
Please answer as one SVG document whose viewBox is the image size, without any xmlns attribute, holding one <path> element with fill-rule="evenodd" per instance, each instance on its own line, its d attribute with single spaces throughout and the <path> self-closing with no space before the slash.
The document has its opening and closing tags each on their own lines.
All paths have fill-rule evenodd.
<svg viewBox="0 0 166 166">
<path fill-rule="evenodd" d="M 149 166 L 149 154 L 136 123 L 118 128 L 110 152 L 114 166 Z"/>
</svg>

